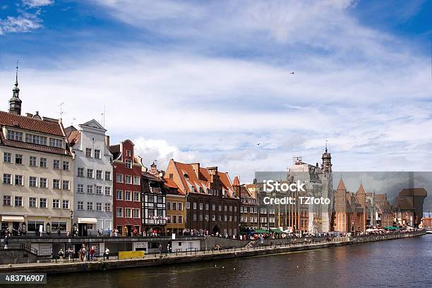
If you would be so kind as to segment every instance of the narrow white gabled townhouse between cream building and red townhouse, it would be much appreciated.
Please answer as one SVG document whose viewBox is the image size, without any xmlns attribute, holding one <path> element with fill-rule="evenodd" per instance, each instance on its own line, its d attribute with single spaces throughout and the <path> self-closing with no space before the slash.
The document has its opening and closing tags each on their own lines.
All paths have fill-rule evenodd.
<svg viewBox="0 0 432 288">
<path fill-rule="evenodd" d="M 73 220 L 78 235 L 112 229 L 112 153 L 109 137 L 96 120 L 66 128 L 73 150 Z"/>
</svg>

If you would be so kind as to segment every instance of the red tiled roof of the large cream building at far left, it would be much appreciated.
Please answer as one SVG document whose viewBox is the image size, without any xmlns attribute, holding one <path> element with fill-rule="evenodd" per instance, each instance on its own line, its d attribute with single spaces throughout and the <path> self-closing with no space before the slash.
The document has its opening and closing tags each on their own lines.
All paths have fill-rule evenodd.
<svg viewBox="0 0 432 288">
<path fill-rule="evenodd" d="M 18 127 L 25 130 L 47 133 L 56 136 L 64 136 L 58 122 L 33 119 L 28 116 L 20 116 L 3 111 L 0 111 L 0 125 Z"/>
</svg>

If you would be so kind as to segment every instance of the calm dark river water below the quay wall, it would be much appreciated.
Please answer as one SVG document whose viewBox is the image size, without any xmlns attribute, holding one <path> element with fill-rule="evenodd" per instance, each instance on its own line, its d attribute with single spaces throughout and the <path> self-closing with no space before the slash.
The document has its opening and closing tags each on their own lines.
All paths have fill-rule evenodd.
<svg viewBox="0 0 432 288">
<path fill-rule="evenodd" d="M 157 268 L 49 276 L 41 287 L 432 287 L 432 235 Z"/>
</svg>

